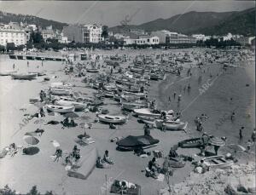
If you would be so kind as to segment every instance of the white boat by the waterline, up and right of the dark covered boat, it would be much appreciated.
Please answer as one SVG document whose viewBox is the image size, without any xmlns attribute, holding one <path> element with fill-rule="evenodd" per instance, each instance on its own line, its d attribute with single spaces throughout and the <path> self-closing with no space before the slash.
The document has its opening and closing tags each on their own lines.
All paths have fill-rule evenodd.
<svg viewBox="0 0 256 195">
<path fill-rule="evenodd" d="M 187 128 L 188 123 L 181 121 L 171 121 L 167 120 L 165 123 L 161 119 L 155 120 L 155 126 L 157 129 L 166 129 L 166 130 L 184 130 Z"/>
</svg>

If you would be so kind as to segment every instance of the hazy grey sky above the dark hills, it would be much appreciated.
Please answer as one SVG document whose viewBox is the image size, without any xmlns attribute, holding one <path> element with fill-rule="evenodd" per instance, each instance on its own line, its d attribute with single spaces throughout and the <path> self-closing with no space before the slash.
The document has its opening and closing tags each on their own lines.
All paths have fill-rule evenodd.
<svg viewBox="0 0 256 195">
<path fill-rule="evenodd" d="M 255 7 L 252 1 L 0 1 L 0 10 L 32 14 L 48 20 L 73 23 L 96 23 L 111 26 L 125 20 L 139 25 L 159 18 L 170 18 L 189 11 L 240 11 Z"/>
</svg>

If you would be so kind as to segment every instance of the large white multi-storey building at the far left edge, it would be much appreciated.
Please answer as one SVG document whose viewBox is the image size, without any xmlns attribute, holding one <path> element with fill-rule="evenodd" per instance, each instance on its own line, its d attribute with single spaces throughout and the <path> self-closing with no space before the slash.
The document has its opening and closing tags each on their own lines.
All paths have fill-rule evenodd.
<svg viewBox="0 0 256 195">
<path fill-rule="evenodd" d="M 15 46 L 26 44 L 27 36 L 24 30 L 0 28 L 0 44 L 15 43 Z"/>
</svg>

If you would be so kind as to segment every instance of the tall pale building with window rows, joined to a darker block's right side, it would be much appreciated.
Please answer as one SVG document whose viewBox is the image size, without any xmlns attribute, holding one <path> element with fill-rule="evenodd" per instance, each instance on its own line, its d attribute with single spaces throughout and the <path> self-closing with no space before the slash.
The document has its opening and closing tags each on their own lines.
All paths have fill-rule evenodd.
<svg viewBox="0 0 256 195">
<path fill-rule="evenodd" d="M 84 43 L 99 43 L 103 41 L 102 26 L 84 25 L 83 39 Z"/>
</svg>

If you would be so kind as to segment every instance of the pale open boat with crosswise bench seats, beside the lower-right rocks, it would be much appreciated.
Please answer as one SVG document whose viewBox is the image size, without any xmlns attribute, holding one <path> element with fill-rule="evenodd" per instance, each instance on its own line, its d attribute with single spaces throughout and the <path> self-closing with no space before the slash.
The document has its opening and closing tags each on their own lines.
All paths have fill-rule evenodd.
<svg viewBox="0 0 256 195">
<path fill-rule="evenodd" d="M 207 167 L 218 168 L 218 169 L 229 168 L 234 164 L 234 161 L 227 160 L 222 155 L 207 157 L 207 158 L 203 158 L 202 160 L 204 161 L 204 164 L 207 165 Z"/>
</svg>

